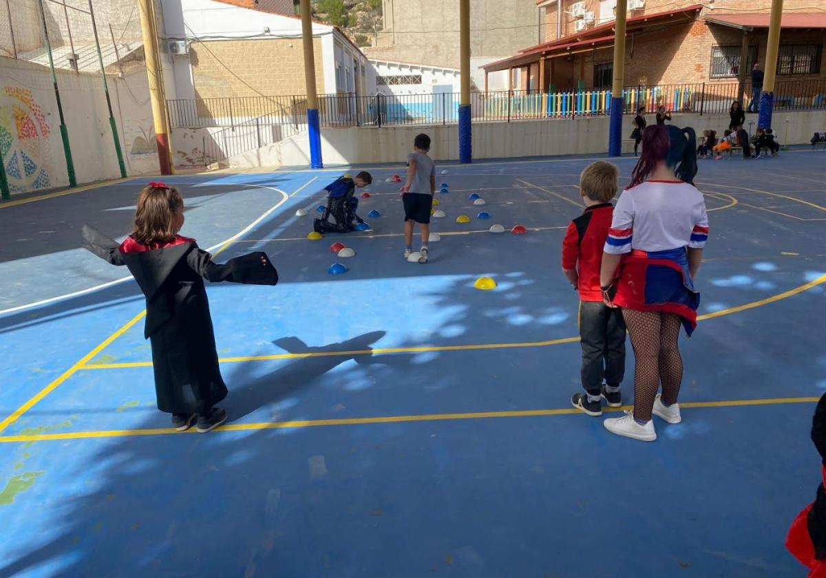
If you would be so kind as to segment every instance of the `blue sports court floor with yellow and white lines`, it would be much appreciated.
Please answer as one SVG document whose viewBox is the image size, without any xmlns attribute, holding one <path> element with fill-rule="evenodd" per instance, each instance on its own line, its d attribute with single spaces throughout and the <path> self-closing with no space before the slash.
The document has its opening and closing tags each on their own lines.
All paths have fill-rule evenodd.
<svg viewBox="0 0 826 578">
<path fill-rule="evenodd" d="M 649 444 L 569 402 L 560 250 L 593 158 L 437 163 L 426 265 L 401 255 L 403 166 L 167 179 L 184 235 L 218 262 L 265 251 L 281 277 L 208 287 L 230 388 L 211 434 L 169 429 L 144 297 L 80 248 L 85 222 L 127 235 L 153 179 L 0 204 L 0 576 L 804 576 L 783 543 L 819 483 L 824 159 L 700 161 L 683 422 L 655 419 Z M 306 239 L 320 189 L 364 169 L 372 230 Z M 627 366 L 630 403 L 630 348 Z"/>
</svg>

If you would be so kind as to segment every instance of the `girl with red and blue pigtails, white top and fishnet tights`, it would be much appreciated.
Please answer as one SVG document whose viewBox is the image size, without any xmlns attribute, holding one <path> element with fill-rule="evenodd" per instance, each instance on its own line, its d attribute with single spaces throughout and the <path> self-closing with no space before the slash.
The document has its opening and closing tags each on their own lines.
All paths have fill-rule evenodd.
<svg viewBox="0 0 826 578">
<path fill-rule="evenodd" d="M 669 424 L 681 421 L 677 340 L 681 327 L 691 335 L 697 324 L 694 277 L 709 235 L 696 173 L 693 129 L 645 129 L 631 185 L 614 209 L 600 275 L 605 303 L 622 308 L 634 347 L 634 411 L 605 419 L 613 434 L 653 442 L 652 414 Z"/>
</svg>

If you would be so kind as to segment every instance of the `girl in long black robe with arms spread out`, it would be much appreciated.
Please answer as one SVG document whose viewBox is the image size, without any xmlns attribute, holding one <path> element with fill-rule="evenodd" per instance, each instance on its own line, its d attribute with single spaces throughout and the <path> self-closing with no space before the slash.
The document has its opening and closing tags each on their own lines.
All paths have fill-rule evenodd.
<svg viewBox="0 0 826 578">
<path fill-rule="evenodd" d="M 146 296 L 144 337 L 150 339 L 158 409 L 184 431 L 197 417 L 199 432 L 225 422 L 215 407 L 227 390 L 218 367 L 215 334 L 203 279 L 275 285 L 278 272 L 265 253 L 219 265 L 195 239 L 178 235 L 183 199 L 173 187 L 150 182 L 135 211 L 135 230 L 118 244 L 88 225 L 85 248 L 113 265 L 126 265 Z"/>
</svg>

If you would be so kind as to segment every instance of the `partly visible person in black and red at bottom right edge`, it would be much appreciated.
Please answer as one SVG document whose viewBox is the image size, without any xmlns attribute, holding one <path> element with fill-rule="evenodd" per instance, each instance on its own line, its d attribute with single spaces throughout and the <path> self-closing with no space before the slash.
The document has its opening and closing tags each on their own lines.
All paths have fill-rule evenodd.
<svg viewBox="0 0 826 578">
<path fill-rule="evenodd" d="M 786 548 L 809 568 L 809 578 L 826 576 L 826 394 L 820 397 L 812 419 L 812 442 L 820 454 L 817 497 L 797 515 L 786 536 Z"/>
</svg>

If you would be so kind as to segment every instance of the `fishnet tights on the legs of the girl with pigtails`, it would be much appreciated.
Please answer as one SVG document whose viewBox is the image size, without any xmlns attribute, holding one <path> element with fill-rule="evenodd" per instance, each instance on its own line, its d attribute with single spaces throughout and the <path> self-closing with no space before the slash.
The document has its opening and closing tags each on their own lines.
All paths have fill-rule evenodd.
<svg viewBox="0 0 826 578">
<path fill-rule="evenodd" d="M 682 358 L 677 346 L 682 320 L 658 311 L 623 310 L 634 347 L 634 418 L 648 421 L 662 381 L 662 403 L 676 403 L 682 381 Z"/>
</svg>

